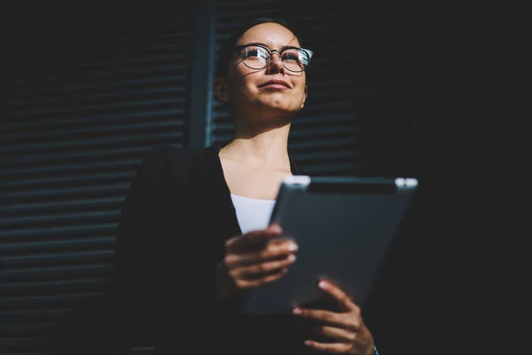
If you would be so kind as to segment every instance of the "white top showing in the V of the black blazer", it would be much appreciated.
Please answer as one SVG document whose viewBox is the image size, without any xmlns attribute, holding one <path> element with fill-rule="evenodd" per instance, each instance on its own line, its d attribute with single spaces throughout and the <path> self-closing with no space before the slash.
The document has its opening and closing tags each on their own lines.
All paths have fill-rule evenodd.
<svg viewBox="0 0 532 355">
<path fill-rule="evenodd" d="M 242 234 L 266 228 L 275 206 L 273 200 L 251 199 L 231 193 Z"/>
</svg>

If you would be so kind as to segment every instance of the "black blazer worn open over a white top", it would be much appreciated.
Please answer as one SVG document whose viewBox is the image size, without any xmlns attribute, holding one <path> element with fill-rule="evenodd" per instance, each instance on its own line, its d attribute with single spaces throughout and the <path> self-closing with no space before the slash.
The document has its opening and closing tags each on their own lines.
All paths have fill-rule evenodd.
<svg viewBox="0 0 532 355">
<path fill-rule="evenodd" d="M 146 154 L 121 211 L 106 296 L 65 319 L 47 353 L 119 354 L 143 342 L 158 354 L 299 352 L 292 319 L 242 319 L 239 302 L 215 301 L 224 241 L 241 233 L 221 147 Z"/>
</svg>

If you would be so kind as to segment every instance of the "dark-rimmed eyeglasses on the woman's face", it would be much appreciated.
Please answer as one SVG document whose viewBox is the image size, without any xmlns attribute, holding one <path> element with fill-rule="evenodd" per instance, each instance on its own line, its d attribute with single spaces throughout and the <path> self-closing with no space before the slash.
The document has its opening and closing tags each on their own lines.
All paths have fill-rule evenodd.
<svg viewBox="0 0 532 355">
<path fill-rule="evenodd" d="M 235 51 L 240 52 L 242 62 L 251 69 L 267 67 L 273 52 L 277 52 L 286 69 L 296 73 L 304 71 L 309 66 L 310 58 L 314 54 L 313 51 L 297 47 L 286 47 L 281 51 L 270 50 L 259 43 L 238 45 Z"/>
</svg>

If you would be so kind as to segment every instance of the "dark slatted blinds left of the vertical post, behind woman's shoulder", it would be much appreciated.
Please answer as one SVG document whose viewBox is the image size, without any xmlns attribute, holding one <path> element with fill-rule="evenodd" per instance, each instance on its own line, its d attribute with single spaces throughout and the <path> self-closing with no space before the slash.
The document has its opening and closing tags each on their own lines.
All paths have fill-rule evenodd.
<svg viewBox="0 0 532 355">
<path fill-rule="evenodd" d="M 152 146 L 183 146 L 182 10 L 153 22 L 93 19 L 12 52 L 0 138 L 0 353 L 38 353 L 60 315 L 104 291 L 138 164 Z"/>
</svg>

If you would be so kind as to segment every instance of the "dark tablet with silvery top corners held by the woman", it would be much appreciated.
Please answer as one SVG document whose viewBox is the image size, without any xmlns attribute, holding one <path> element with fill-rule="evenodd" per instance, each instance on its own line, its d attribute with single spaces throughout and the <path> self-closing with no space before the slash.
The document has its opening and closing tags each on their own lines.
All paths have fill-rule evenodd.
<svg viewBox="0 0 532 355">
<path fill-rule="evenodd" d="M 319 278 L 363 307 L 417 188 L 411 177 L 286 177 L 270 223 L 297 242 L 297 260 L 283 278 L 246 294 L 241 311 L 289 314 L 323 296 Z"/>
</svg>

